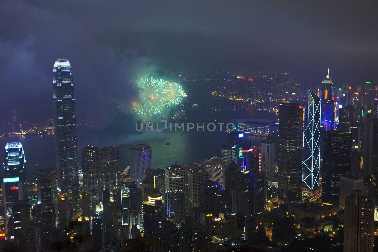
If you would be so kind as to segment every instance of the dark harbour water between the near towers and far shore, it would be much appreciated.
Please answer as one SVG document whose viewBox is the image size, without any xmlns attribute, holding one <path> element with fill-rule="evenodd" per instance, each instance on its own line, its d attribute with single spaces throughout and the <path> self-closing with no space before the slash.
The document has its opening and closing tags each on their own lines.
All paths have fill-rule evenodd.
<svg viewBox="0 0 378 252">
<path fill-rule="evenodd" d="M 267 112 L 254 111 L 253 106 L 247 110 L 239 111 L 237 106 L 234 107 L 229 101 L 220 101 L 212 98 L 211 91 L 216 88 L 217 82 L 193 82 L 187 86 L 188 99 L 192 103 L 198 104 L 198 110 L 188 109 L 186 111 L 186 121 L 195 125 L 204 123 L 205 130 L 192 130 L 183 132 L 163 131 L 163 132 L 146 132 L 138 133 L 135 127 L 127 127 L 125 132 L 125 123 L 113 123 L 112 127 L 106 121 L 100 124 L 80 125 L 77 127 L 77 150 L 79 154 L 79 167 L 81 167 L 81 149 L 85 145 L 104 146 L 114 144 L 120 149 L 121 170 L 129 165 L 129 148 L 134 144 L 146 143 L 152 147 L 153 168 L 164 168 L 167 165 L 188 164 L 200 159 L 206 159 L 220 154 L 220 148 L 226 143 L 227 132 L 220 131 L 219 127 L 215 131 L 206 130 L 208 123 L 225 123 L 230 122 L 232 118 L 267 118 L 272 119 L 274 116 Z M 206 84 L 206 85 L 205 85 Z M 198 90 L 201 90 L 199 92 Z M 223 107 L 222 107 L 223 106 Z M 134 122 L 129 122 L 134 124 Z M 128 125 L 130 126 L 130 125 Z M 182 135 L 181 135 L 182 134 Z M 262 137 L 248 136 L 252 146 L 258 146 Z M 47 137 L 10 135 L 0 138 L 0 152 L 5 147 L 6 142 L 20 141 L 23 145 L 26 157 L 27 176 L 30 179 L 35 178 L 36 169 L 53 167 L 55 168 L 55 145 L 54 135 Z M 169 145 L 165 143 L 169 142 Z"/>
</svg>

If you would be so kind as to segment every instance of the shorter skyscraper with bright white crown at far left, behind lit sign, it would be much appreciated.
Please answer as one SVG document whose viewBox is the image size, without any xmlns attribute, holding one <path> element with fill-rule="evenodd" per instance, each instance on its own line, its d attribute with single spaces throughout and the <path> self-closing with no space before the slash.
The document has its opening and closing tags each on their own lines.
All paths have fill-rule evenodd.
<svg viewBox="0 0 378 252">
<path fill-rule="evenodd" d="M 4 178 L 19 178 L 22 183 L 22 198 L 28 197 L 28 184 L 26 181 L 25 153 L 20 142 L 8 142 L 4 154 Z"/>
</svg>

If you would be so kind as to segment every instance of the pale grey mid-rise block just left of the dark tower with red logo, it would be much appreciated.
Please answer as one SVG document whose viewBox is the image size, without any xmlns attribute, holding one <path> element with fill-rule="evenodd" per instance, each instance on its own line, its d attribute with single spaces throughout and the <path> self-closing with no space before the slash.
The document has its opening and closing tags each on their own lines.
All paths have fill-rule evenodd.
<svg viewBox="0 0 378 252">
<path fill-rule="evenodd" d="M 271 175 L 276 172 L 276 141 L 266 139 L 261 141 L 261 171 Z"/>
</svg>

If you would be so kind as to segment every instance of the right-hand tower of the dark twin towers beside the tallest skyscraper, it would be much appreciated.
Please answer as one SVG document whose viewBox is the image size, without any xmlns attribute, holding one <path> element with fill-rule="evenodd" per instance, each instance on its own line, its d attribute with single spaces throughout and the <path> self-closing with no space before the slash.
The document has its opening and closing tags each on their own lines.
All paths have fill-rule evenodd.
<svg viewBox="0 0 378 252">
<path fill-rule="evenodd" d="M 113 202 L 114 188 L 119 185 L 119 149 L 115 145 L 99 148 L 100 178 L 99 195 L 102 200 L 102 193 L 108 190 L 110 201 Z"/>
</svg>

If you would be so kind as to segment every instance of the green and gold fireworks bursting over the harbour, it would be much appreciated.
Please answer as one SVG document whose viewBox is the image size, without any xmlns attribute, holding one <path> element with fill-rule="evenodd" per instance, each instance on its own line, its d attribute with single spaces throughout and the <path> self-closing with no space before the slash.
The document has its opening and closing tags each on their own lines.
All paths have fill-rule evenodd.
<svg viewBox="0 0 378 252">
<path fill-rule="evenodd" d="M 153 79 L 152 76 L 141 78 L 138 88 L 140 101 L 133 104 L 133 110 L 146 118 L 160 115 L 165 108 L 180 105 L 187 97 L 180 84 Z"/>
</svg>

